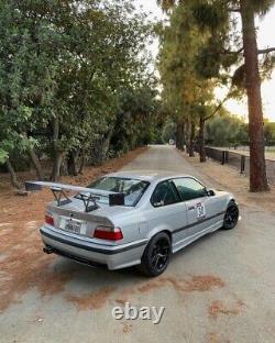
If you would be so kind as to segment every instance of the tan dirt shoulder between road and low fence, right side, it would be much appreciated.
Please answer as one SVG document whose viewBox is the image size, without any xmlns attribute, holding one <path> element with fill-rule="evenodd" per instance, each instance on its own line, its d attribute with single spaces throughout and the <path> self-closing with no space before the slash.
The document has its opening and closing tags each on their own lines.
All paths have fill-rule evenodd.
<svg viewBox="0 0 275 343">
<path fill-rule="evenodd" d="M 271 191 L 253 193 L 249 191 L 249 177 L 241 175 L 233 167 L 221 165 L 212 159 L 200 163 L 199 157 L 188 157 L 187 154 L 180 153 L 188 163 L 204 175 L 218 189 L 231 191 L 243 206 L 260 206 L 264 210 L 275 211 L 275 187 L 271 186 Z"/>
</svg>

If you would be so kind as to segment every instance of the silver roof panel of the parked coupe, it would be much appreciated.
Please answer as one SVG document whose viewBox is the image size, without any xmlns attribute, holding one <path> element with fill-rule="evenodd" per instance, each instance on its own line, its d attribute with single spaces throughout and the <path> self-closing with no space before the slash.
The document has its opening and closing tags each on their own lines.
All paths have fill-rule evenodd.
<svg viewBox="0 0 275 343">
<path fill-rule="evenodd" d="M 178 174 L 169 170 L 121 170 L 117 173 L 108 174 L 107 176 L 112 177 L 124 177 L 124 178 L 134 178 L 144 181 L 157 181 L 162 179 L 175 178 L 175 177 L 193 177 L 190 175 Z"/>
</svg>

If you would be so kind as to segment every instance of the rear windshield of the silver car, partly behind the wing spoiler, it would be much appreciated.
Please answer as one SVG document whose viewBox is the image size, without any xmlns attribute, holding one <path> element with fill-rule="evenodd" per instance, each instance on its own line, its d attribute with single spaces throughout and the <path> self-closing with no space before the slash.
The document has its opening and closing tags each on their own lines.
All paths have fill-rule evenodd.
<svg viewBox="0 0 275 343">
<path fill-rule="evenodd" d="M 102 177 L 91 182 L 88 188 L 106 190 L 110 192 L 124 193 L 125 206 L 135 206 L 142 195 L 148 187 L 147 181 L 121 178 L 121 177 Z M 109 203 L 108 197 L 100 197 L 97 202 Z"/>
</svg>

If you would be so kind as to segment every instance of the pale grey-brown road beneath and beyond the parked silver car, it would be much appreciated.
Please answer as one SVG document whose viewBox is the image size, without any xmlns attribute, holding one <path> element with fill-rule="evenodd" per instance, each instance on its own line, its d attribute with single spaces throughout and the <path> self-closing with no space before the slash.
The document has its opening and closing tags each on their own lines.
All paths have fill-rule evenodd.
<svg viewBox="0 0 275 343">
<path fill-rule="evenodd" d="M 125 168 L 176 170 L 215 187 L 170 146 L 153 146 Z M 107 272 L 44 255 L 26 273 L 18 256 L 11 265 L 21 259 L 24 279 L 32 281 L 2 309 L 0 342 L 275 342 L 275 214 L 246 204 L 241 215 L 235 230 L 185 248 L 155 279 L 134 268 Z M 28 225 L 11 248 L 38 235 L 38 222 Z M 1 268 L 0 281 L 6 277 Z M 165 307 L 161 323 L 114 320 L 112 308 L 125 301 Z"/>
</svg>

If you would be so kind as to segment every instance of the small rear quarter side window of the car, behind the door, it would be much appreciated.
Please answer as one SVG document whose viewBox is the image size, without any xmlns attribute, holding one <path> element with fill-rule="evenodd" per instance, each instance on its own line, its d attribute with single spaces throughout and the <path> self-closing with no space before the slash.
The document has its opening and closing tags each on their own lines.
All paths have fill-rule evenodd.
<svg viewBox="0 0 275 343">
<path fill-rule="evenodd" d="M 179 198 L 172 181 L 158 184 L 151 198 L 151 203 L 154 207 L 166 206 L 178 201 Z"/>
</svg>

